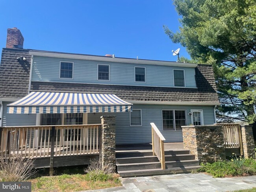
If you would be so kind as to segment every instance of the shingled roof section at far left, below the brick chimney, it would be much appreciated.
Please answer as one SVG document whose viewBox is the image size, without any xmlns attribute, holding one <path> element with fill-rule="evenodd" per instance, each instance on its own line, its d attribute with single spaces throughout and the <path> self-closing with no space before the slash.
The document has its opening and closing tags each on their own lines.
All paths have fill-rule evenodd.
<svg viewBox="0 0 256 192">
<path fill-rule="evenodd" d="M 0 98 L 22 98 L 28 94 L 30 61 L 29 50 L 3 48 L 0 64 Z M 26 57 L 18 61 L 17 57 Z"/>
</svg>

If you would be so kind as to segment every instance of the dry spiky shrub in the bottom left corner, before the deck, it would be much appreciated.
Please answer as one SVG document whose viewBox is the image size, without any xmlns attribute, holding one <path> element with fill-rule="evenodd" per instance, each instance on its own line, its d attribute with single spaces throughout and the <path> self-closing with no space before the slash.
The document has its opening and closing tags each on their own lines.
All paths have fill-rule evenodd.
<svg viewBox="0 0 256 192">
<path fill-rule="evenodd" d="M 33 162 L 33 159 L 26 159 L 22 155 L 13 155 L 9 159 L 0 157 L 0 181 L 17 182 L 28 179 L 36 172 Z"/>
</svg>

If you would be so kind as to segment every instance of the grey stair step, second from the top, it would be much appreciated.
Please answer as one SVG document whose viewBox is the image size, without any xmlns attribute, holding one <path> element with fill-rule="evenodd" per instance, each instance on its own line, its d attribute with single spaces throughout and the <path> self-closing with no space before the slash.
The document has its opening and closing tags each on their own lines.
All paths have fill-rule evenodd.
<svg viewBox="0 0 256 192">
<path fill-rule="evenodd" d="M 165 155 L 165 161 L 182 161 L 182 160 L 193 160 L 193 159 L 195 159 L 195 155 L 191 155 L 191 154 Z M 116 159 L 116 164 L 139 163 L 139 162 L 159 162 L 159 160 L 156 156 L 126 157 L 126 158 Z"/>
</svg>

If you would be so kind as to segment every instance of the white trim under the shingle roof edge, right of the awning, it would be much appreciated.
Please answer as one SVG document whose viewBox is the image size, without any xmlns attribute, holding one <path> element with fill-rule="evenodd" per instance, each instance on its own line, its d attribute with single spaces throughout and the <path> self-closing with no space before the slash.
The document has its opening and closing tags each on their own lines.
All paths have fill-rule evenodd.
<svg viewBox="0 0 256 192">
<path fill-rule="evenodd" d="M 203 102 L 146 102 L 146 101 L 126 101 L 133 104 L 149 105 L 221 105 L 221 103 L 203 103 Z"/>
</svg>

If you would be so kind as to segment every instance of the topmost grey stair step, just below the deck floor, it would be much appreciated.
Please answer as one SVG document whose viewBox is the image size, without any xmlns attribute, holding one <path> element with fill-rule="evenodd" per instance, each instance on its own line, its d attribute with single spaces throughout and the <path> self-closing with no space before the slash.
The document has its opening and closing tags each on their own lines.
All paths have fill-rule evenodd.
<svg viewBox="0 0 256 192">
<path fill-rule="evenodd" d="M 189 150 L 175 150 L 175 151 L 165 151 L 165 155 L 181 155 L 181 154 L 190 154 Z M 152 151 L 125 151 L 125 152 L 116 152 L 116 158 L 126 158 L 126 157 L 146 157 L 152 156 Z"/>
</svg>

